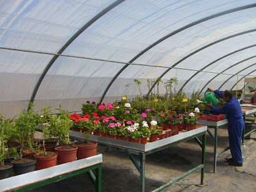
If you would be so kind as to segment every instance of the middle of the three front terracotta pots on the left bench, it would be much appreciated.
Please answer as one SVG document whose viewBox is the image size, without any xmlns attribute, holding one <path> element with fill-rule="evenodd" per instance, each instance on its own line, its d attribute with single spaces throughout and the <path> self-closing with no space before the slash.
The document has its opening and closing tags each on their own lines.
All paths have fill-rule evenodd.
<svg viewBox="0 0 256 192">
<path fill-rule="evenodd" d="M 55 151 L 58 152 L 57 161 L 58 164 L 68 163 L 77 160 L 77 146 L 66 146 L 55 147 Z"/>
</svg>

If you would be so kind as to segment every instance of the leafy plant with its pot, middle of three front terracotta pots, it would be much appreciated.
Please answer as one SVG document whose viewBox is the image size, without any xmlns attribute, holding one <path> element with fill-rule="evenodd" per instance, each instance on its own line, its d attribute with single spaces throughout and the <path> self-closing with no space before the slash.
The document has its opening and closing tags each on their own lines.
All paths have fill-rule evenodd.
<svg viewBox="0 0 256 192">
<path fill-rule="evenodd" d="M 77 146 L 69 146 L 70 142 L 70 127 L 72 120 L 69 118 L 68 111 L 63 109 L 59 114 L 51 115 L 48 124 L 51 127 L 53 136 L 58 139 L 61 146 L 55 147 L 55 151 L 58 152 L 57 161 L 58 164 L 68 163 L 77 159 Z"/>
</svg>

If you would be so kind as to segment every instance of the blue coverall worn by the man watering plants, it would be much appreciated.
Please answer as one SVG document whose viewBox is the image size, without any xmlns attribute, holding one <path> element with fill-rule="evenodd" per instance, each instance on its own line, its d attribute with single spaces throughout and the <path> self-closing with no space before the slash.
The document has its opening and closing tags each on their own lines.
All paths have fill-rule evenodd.
<svg viewBox="0 0 256 192">
<path fill-rule="evenodd" d="M 215 90 L 214 93 L 221 98 L 222 93 L 220 90 Z M 214 114 L 227 114 L 228 115 L 228 136 L 230 144 L 230 152 L 232 154 L 234 163 L 243 163 L 241 152 L 241 138 L 245 122 L 243 120 L 243 112 L 240 103 L 235 97 L 232 97 L 221 109 L 211 106 L 211 111 Z"/>
</svg>

